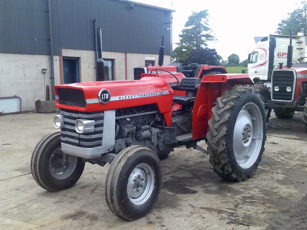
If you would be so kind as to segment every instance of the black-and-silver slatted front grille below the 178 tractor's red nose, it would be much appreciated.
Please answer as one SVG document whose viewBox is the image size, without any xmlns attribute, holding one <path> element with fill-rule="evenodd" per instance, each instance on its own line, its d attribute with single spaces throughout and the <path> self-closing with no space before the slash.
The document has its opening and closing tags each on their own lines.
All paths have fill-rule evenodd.
<svg viewBox="0 0 307 230">
<path fill-rule="evenodd" d="M 82 148 L 94 148 L 101 146 L 103 134 L 103 111 L 99 112 L 78 112 L 61 109 L 64 117 L 64 128 L 61 129 L 61 141 L 65 144 Z M 77 119 L 95 120 L 94 132 L 77 133 L 75 121 Z"/>
</svg>

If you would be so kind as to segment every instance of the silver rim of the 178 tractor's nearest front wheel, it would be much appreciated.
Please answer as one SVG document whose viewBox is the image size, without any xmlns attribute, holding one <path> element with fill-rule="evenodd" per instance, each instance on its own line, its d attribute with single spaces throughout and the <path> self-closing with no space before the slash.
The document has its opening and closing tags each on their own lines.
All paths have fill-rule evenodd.
<svg viewBox="0 0 307 230">
<path fill-rule="evenodd" d="M 144 204 L 153 192 L 154 182 L 154 172 L 148 164 L 142 163 L 135 167 L 127 184 L 127 194 L 131 203 Z"/>
</svg>

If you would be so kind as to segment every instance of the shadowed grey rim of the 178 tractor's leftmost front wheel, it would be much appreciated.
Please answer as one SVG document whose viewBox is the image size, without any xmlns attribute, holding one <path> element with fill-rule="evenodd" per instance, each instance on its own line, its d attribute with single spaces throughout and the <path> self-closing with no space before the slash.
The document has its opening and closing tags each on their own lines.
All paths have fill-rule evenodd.
<svg viewBox="0 0 307 230">
<path fill-rule="evenodd" d="M 63 166 L 61 160 L 63 159 L 63 152 L 61 149 L 55 150 L 49 159 L 49 172 L 51 175 L 59 180 L 68 178 L 74 171 L 77 165 L 77 157 L 67 155 L 68 162 Z"/>
</svg>

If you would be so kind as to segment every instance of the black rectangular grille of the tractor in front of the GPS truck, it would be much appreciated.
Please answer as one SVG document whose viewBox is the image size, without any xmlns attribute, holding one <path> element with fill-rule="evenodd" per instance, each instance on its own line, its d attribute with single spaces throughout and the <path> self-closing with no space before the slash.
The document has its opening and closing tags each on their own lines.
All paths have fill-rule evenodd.
<svg viewBox="0 0 307 230">
<path fill-rule="evenodd" d="M 294 88 L 294 72 L 287 70 L 273 71 L 272 76 L 272 99 L 278 101 L 292 101 L 293 94 L 295 92 Z M 279 90 L 275 91 L 274 87 L 278 86 Z M 291 92 L 287 92 L 286 88 L 290 86 L 292 88 Z"/>
</svg>

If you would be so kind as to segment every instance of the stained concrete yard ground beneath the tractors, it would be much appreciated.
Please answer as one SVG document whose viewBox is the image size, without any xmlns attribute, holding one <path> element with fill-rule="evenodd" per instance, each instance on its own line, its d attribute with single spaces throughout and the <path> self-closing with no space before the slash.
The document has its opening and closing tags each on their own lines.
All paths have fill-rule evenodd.
<svg viewBox="0 0 307 230">
<path fill-rule="evenodd" d="M 156 206 L 136 221 L 121 220 L 107 207 L 108 165 L 87 163 L 77 184 L 62 192 L 36 184 L 30 159 L 39 140 L 57 131 L 53 114 L 0 116 L 0 229 L 306 229 L 302 113 L 290 120 L 273 114 L 252 178 L 227 182 L 212 171 L 208 155 L 178 148 L 162 161 L 164 182 Z"/>
</svg>

